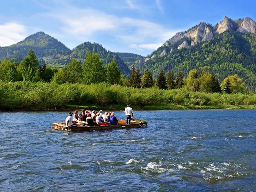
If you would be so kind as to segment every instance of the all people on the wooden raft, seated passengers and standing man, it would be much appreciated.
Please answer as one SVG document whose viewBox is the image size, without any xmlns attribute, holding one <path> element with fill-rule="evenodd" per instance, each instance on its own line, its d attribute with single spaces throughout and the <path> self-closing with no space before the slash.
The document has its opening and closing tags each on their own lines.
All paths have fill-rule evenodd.
<svg viewBox="0 0 256 192">
<path fill-rule="evenodd" d="M 131 118 L 133 117 L 133 110 L 130 107 L 130 104 L 125 107 L 124 110 L 126 114 L 126 124 L 131 123 Z M 86 122 L 88 126 L 108 126 L 108 125 L 118 125 L 118 120 L 115 116 L 114 112 L 105 112 L 102 113 L 102 110 L 96 112 L 95 110 L 82 110 L 80 114 L 78 114 L 78 110 L 73 113 L 70 112 L 68 117 L 66 118 L 66 126 L 70 128 L 70 126 L 78 125 L 76 122 L 82 121 Z"/>
</svg>

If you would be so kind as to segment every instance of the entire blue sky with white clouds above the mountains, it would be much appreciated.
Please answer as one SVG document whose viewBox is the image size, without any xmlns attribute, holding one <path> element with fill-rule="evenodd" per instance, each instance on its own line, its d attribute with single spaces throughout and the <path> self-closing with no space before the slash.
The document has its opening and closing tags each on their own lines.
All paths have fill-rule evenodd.
<svg viewBox="0 0 256 192">
<path fill-rule="evenodd" d="M 71 50 L 96 42 L 147 56 L 200 22 L 256 20 L 255 0 L 0 0 L 0 46 L 44 32 Z"/>
</svg>

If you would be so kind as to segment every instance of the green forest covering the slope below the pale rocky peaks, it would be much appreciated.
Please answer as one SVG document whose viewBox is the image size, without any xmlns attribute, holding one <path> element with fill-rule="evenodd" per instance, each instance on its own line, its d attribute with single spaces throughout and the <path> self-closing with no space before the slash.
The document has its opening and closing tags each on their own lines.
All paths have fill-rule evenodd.
<svg viewBox="0 0 256 192">
<path fill-rule="evenodd" d="M 154 58 L 144 63 L 140 70 L 148 68 L 156 78 L 162 68 L 164 72 L 173 70 L 174 75 L 182 71 L 187 76 L 190 70 L 199 71 L 206 66 L 220 82 L 228 75 L 237 74 L 249 90 L 256 91 L 256 34 L 228 30 L 195 46 L 177 49 L 184 40 L 158 48 L 150 55 L 155 55 Z M 168 54 L 160 56 L 164 49 Z"/>
</svg>

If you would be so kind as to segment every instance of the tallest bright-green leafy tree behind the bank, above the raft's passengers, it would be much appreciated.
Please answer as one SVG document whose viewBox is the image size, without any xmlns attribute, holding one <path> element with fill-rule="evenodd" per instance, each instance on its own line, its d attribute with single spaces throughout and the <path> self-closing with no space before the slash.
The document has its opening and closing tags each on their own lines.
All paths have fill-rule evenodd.
<svg viewBox="0 0 256 192">
<path fill-rule="evenodd" d="M 105 68 L 102 66 L 102 61 L 100 60 L 98 53 L 88 52 L 84 63 L 82 64 L 83 79 L 84 84 L 96 84 L 104 82 L 105 78 Z"/>
</svg>

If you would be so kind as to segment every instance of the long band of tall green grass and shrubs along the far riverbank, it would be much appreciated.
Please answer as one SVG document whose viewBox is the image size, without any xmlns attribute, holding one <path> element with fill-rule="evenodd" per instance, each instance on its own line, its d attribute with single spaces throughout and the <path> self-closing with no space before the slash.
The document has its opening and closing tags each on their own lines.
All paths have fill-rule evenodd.
<svg viewBox="0 0 256 192">
<path fill-rule="evenodd" d="M 112 104 L 150 106 L 178 105 L 255 105 L 256 94 L 220 94 L 192 92 L 185 89 L 138 89 L 119 85 L 61 84 L 44 82 L 0 82 L 0 109 L 58 109 L 67 104 Z"/>
</svg>

